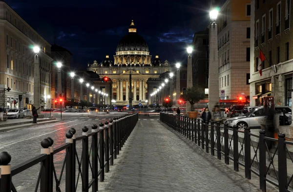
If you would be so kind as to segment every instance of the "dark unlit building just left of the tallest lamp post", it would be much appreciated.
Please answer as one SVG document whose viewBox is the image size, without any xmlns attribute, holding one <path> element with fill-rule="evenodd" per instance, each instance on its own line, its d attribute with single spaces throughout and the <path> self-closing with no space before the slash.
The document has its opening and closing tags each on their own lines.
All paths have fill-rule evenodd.
<svg viewBox="0 0 293 192">
<path fill-rule="evenodd" d="M 201 91 L 209 88 L 209 29 L 194 34 L 192 71 L 193 86 Z"/>
</svg>

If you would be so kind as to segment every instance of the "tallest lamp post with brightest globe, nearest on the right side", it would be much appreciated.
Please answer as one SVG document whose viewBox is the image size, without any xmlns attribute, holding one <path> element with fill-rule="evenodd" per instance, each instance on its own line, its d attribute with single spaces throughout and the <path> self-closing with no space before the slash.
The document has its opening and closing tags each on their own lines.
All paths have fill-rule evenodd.
<svg viewBox="0 0 293 192">
<path fill-rule="evenodd" d="M 218 34 L 216 19 L 218 10 L 209 12 L 209 107 L 219 102 L 219 71 L 218 71 Z"/>
</svg>

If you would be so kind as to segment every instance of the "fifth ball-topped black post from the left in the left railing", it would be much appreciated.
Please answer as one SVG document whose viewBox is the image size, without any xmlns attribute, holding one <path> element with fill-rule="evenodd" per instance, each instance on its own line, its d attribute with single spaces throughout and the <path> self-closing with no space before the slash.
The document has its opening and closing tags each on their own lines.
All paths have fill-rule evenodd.
<svg viewBox="0 0 293 192">
<path fill-rule="evenodd" d="M 92 192 L 98 191 L 98 126 L 92 125 L 92 143 L 91 143 L 91 155 L 92 155 L 92 179 L 94 182 L 92 184 Z"/>
</svg>

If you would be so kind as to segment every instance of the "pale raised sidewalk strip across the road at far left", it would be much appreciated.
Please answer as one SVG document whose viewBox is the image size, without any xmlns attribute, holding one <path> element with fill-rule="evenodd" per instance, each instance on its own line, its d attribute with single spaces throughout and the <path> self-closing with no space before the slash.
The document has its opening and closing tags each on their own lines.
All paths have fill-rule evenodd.
<svg viewBox="0 0 293 192">
<path fill-rule="evenodd" d="M 44 125 L 48 123 L 56 123 L 62 120 L 57 120 L 56 118 L 38 118 L 37 125 Z M 33 124 L 33 119 L 8 119 L 7 121 L 0 121 L 0 132 L 5 132 L 17 128 L 28 128 Z"/>
</svg>

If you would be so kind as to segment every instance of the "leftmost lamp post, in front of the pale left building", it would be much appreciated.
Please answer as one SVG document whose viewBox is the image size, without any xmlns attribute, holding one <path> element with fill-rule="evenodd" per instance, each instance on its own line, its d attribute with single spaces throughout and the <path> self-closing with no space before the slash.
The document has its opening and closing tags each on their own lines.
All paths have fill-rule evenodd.
<svg viewBox="0 0 293 192">
<path fill-rule="evenodd" d="M 34 46 L 34 106 L 36 108 L 41 107 L 41 97 L 40 97 L 40 90 L 41 90 L 41 82 L 40 82 L 40 64 L 39 64 L 39 52 L 40 47 Z M 41 113 L 41 109 L 38 110 Z"/>
</svg>

